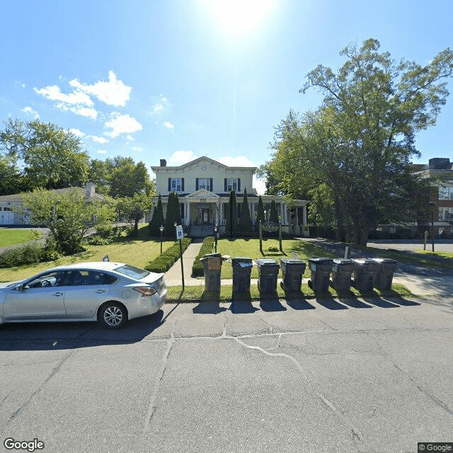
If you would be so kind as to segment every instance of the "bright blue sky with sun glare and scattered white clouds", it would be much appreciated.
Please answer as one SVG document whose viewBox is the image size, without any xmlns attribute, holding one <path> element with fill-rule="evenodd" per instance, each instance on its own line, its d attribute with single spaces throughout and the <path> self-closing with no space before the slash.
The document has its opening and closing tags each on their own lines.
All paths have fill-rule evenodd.
<svg viewBox="0 0 453 453">
<path fill-rule="evenodd" d="M 420 64 L 453 44 L 449 0 L 16 0 L 2 16 L 1 120 L 39 117 L 92 158 L 148 166 L 260 166 L 289 110 L 320 104 L 298 92 L 306 74 L 337 69 L 350 42 Z M 418 162 L 452 159 L 452 124 L 453 96 L 418 135 Z"/>
</svg>

